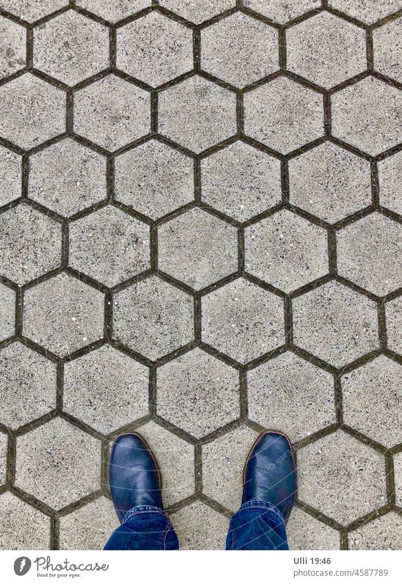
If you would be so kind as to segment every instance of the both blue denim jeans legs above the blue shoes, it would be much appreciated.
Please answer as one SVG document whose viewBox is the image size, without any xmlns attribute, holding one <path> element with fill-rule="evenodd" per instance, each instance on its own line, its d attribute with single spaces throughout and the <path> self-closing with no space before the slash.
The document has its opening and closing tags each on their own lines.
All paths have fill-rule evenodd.
<svg viewBox="0 0 402 584">
<path fill-rule="evenodd" d="M 104 550 L 178 550 L 169 516 L 157 507 L 130 509 Z M 248 501 L 232 516 L 226 550 L 288 550 L 284 518 L 266 501 Z"/>
</svg>

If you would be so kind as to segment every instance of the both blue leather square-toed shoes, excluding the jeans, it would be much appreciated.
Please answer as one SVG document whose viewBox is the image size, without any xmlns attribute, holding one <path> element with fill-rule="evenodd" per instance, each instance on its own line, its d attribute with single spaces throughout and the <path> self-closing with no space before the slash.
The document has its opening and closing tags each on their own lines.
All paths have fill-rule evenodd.
<svg viewBox="0 0 402 584">
<path fill-rule="evenodd" d="M 109 484 L 120 519 L 133 507 L 163 509 L 162 477 L 147 442 L 137 433 L 122 434 L 113 444 Z M 296 468 L 286 435 L 268 431 L 255 440 L 243 471 L 242 504 L 253 499 L 267 501 L 287 521 L 295 501 Z"/>
</svg>

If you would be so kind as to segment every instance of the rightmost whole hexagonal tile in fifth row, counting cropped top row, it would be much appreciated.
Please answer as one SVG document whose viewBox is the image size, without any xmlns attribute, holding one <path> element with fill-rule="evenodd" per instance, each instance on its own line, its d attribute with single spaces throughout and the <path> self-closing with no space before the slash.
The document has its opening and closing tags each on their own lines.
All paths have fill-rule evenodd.
<svg viewBox="0 0 402 584">
<path fill-rule="evenodd" d="M 328 274 L 326 230 L 284 209 L 246 228 L 246 271 L 284 292 Z"/>
</svg>

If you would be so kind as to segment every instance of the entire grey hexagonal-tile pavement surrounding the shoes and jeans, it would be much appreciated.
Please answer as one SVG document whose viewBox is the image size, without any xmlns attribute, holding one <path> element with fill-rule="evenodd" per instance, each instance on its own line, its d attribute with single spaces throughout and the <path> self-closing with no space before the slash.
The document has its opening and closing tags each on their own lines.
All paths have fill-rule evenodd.
<svg viewBox="0 0 402 584">
<path fill-rule="evenodd" d="M 223 549 L 268 428 L 290 548 L 402 549 L 402 0 L 0 8 L 0 548 L 102 548 L 135 430 Z"/>
</svg>

